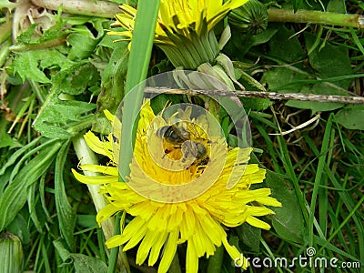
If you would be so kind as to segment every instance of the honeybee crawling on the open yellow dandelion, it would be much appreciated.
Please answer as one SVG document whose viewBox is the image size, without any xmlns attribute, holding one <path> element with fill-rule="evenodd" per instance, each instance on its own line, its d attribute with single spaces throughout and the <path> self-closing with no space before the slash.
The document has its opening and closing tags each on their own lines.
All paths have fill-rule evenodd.
<svg viewBox="0 0 364 273">
<path fill-rule="evenodd" d="M 191 126 L 193 126 L 195 132 L 192 132 Z M 164 139 L 171 147 L 180 149 L 182 152 L 182 162 L 185 162 L 187 158 L 195 158 L 192 165 L 206 166 L 209 157 L 207 155 L 207 143 L 208 141 L 202 137 L 199 137 L 197 130 L 193 124 L 188 128 L 185 123 L 177 123 L 171 126 L 163 126 L 157 130 L 157 136 Z M 170 150 L 166 149 L 167 155 Z"/>
</svg>

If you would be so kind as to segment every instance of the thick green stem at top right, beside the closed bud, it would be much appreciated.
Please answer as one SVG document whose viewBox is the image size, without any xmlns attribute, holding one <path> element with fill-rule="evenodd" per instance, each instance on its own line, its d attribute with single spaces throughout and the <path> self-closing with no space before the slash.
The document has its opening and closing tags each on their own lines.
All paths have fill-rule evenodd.
<svg viewBox="0 0 364 273">
<path fill-rule="evenodd" d="M 316 10 L 268 9 L 269 22 L 313 23 L 364 28 L 363 15 L 345 15 Z"/>
</svg>

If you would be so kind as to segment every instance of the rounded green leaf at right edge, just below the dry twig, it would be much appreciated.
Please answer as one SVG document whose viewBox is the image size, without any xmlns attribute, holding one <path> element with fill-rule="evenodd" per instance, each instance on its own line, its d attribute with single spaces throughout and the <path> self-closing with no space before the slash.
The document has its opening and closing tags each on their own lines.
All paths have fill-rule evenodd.
<svg viewBox="0 0 364 273">
<path fill-rule="evenodd" d="M 364 107 L 346 107 L 335 115 L 335 120 L 349 130 L 364 130 Z"/>
</svg>

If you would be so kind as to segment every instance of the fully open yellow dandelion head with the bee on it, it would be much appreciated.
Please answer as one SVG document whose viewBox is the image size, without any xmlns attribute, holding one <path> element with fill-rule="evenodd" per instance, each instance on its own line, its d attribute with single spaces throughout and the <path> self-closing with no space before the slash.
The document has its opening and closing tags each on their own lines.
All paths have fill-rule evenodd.
<svg viewBox="0 0 364 273">
<path fill-rule="evenodd" d="M 189 114 L 188 110 L 184 112 L 187 117 Z M 114 126 L 118 127 L 116 131 L 121 128 L 114 116 L 108 112 L 106 116 L 114 121 Z M 238 227 L 247 222 L 268 229 L 269 225 L 257 217 L 273 214 L 265 206 L 281 206 L 275 198 L 269 197 L 270 189 L 249 188 L 252 184 L 261 183 L 265 177 L 264 169 L 256 164 L 248 165 L 250 148 L 227 148 L 223 138 L 207 137 L 203 132 L 207 130 L 206 116 L 184 122 L 184 130 L 192 129 L 188 126 L 195 123 L 198 124 L 195 129 L 199 137 L 188 138 L 195 144 L 197 140 L 201 141 L 201 145 L 206 147 L 207 160 L 204 162 L 191 159 L 192 163 L 186 167 L 184 164 L 189 156 L 182 147 L 166 143 L 166 139 L 159 141 L 162 148 L 158 146 L 158 132 L 165 132 L 170 127 L 163 118 L 154 115 L 147 103 L 140 113 L 127 183 L 118 182 L 118 150 L 113 147 L 119 141 L 112 135 L 106 141 L 99 140 L 92 132 L 85 135 L 88 146 L 96 153 L 109 157 L 111 164 L 107 167 L 84 165 L 81 169 L 103 173 L 104 176 L 86 177 L 72 170 L 80 182 L 104 185 L 102 193 L 109 204 L 97 214 L 99 224 L 120 211 L 133 216 L 120 235 L 106 241 L 106 246 L 124 245 L 126 251 L 138 245 L 138 265 L 148 258 L 148 265 L 153 266 L 161 256 L 158 272 L 167 272 L 177 245 L 183 243 L 187 243 L 186 272 L 197 272 L 198 258 L 208 258 L 221 245 L 231 258 L 241 258 L 238 248 L 227 242 L 226 227 Z M 157 154 L 158 151 L 162 154 Z M 227 181 L 237 167 L 242 168 L 244 173 L 234 187 L 227 189 Z M 220 172 L 216 174 L 214 170 L 218 168 Z M 191 184 L 196 181 L 199 182 Z M 206 182 L 212 185 L 205 187 Z M 244 259 L 241 264 L 247 268 L 248 260 Z"/>
</svg>

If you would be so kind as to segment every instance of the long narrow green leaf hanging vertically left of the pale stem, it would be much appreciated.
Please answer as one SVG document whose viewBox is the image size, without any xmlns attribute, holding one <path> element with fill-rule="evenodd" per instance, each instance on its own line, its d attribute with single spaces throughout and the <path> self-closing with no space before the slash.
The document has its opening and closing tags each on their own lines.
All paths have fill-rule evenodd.
<svg viewBox="0 0 364 273">
<path fill-rule="evenodd" d="M 63 172 L 65 170 L 65 163 L 67 152 L 69 148 L 69 141 L 66 141 L 60 148 L 56 157 L 56 169 L 55 169 L 55 197 L 56 197 L 56 212 L 59 222 L 59 229 L 63 238 L 66 239 L 66 243 L 70 249 L 74 248 L 74 229 L 76 226 L 76 213 L 69 205 L 66 190 L 65 181 L 63 179 Z"/>
</svg>

